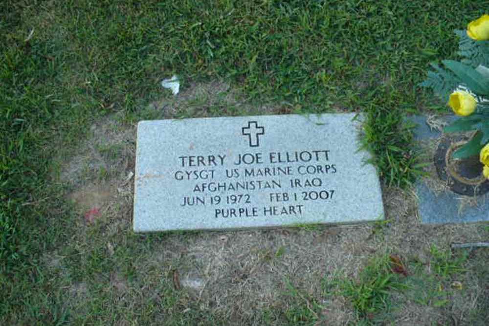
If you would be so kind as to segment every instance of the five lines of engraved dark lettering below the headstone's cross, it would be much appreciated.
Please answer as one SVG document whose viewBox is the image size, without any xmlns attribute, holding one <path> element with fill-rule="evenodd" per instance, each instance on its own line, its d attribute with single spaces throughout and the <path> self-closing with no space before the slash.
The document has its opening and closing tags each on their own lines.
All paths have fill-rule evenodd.
<svg viewBox="0 0 489 326">
<path fill-rule="evenodd" d="M 189 155 L 178 156 L 178 162 L 181 166 L 181 170 L 175 172 L 174 177 L 178 181 L 197 181 L 205 180 L 206 182 L 199 182 L 193 187 L 195 195 L 202 195 L 203 193 L 215 193 L 215 192 L 236 192 L 236 191 L 254 191 L 262 189 L 277 189 L 282 188 L 281 179 L 269 179 L 269 180 L 242 180 L 242 181 L 212 181 L 217 174 L 221 171 L 213 169 L 219 166 L 229 166 L 225 170 L 225 177 L 228 179 L 243 179 L 243 178 L 256 178 L 256 177 L 273 177 L 279 175 L 298 175 L 299 177 L 308 176 L 311 174 L 334 174 L 336 173 L 335 164 L 328 164 L 330 160 L 329 150 L 312 150 L 312 151 L 295 151 L 295 152 L 268 152 L 266 154 L 262 152 L 248 152 L 238 154 L 235 160 L 229 163 L 229 157 L 226 155 Z M 284 163 L 303 163 L 292 167 L 290 165 L 284 166 Z M 255 165 L 267 164 L 267 167 L 254 167 Z M 269 166 L 277 164 L 277 166 Z M 280 165 L 279 165 L 280 164 Z M 223 175 L 222 175 L 223 176 Z M 208 181 L 210 179 L 210 181 Z M 289 181 L 290 188 L 303 188 L 303 187 L 321 187 L 323 185 L 322 179 L 319 177 L 313 178 L 291 178 Z M 333 196 L 333 190 L 331 191 L 319 191 L 319 192 L 307 192 L 303 193 L 302 199 L 327 199 Z M 297 194 L 291 194 L 297 200 Z M 308 198 L 309 197 L 309 198 Z M 289 194 L 270 194 L 270 201 L 289 201 Z M 221 196 L 211 196 L 207 198 L 207 202 L 211 205 L 219 204 L 250 204 L 250 195 L 230 195 L 221 198 Z M 205 205 L 205 196 L 193 196 L 184 197 L 183 203 L 180 206 L 194 206 Z M 264 215 L 280 215 L 280 214 L 302 214 L 304 205 L 289 205 L 284 206 L 282 209 L 276 206 L 264 207 Z M 215 217 L 252 217 L 258 216 L 258 208 L 229 208 L 229 209 L 216 209 Z"/>
</svg>

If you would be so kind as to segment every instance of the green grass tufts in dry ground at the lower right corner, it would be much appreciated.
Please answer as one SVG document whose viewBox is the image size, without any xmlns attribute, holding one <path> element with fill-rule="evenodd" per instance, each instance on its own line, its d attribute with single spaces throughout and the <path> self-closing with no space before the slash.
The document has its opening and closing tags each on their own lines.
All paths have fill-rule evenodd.
<svg viewBox="0 0 489 326">
<path fill-rule="evenodd" d="M 464 251 L 454 255 L 449 250 L 440 251 L 432 245 L 430 256 L 430 272 L 425 271 L 420 261 L 409 260 L 403 262 L 407 273 L 402 276 L 393 271 L 390 255 L 376 255 L 365 264 L 356 279 L 337 277 L 333 282 L 323 282 L 323 291 L 331 293 L 336 289 L 345 296 L 358 314 L 359 325 L 377 325 L 391 320 L 396 311 L 402 309 L 399 298 L 420 306 L 450 309 L 454 292 L 462 290 L 455 289 L 452 281 L 465 280 L 464 283 L 469 283 L 469 278 L 462 277 L 467 271 L 467 254 Z M 483 273 L 479 262 L 475 264 L 477 266 L 473 270 Z M 484 283 L 485 277 L 481 279 L 481 283 Z M 393 302 L 393 295 L 397 295 L 397 302 Z M 472 318 L 476 322 L 484 319 Z"/>
</svg>

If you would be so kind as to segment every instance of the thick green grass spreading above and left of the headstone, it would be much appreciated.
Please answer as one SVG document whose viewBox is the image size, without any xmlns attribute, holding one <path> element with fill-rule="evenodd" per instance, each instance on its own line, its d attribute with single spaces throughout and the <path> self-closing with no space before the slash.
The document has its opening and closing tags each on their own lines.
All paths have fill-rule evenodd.
<svg viewBox="0 0 489 326">
<path fill-rule="evenodd" d="M 64 185 L 51 179 L 52 157 L 73 154 L 89 126 L 110 114 L 122 113 L 126 121 L 158 117 L 143 108 L 161 97 L 159 81 L 177 73 L 183 90 L 224 79 L 242 101 L 280 103 L 285 112 L 364 111 L 365 146 L 383 180 L 409 184 L 416 155 L 407 150 L 411 138 L 401 116 L 441 107 L 416 85 L 428 62 L 454 57 L 452 30 L 482 14 L 481 3 L 2 1 L 0 320 L 53 325 L 89 316 L 87 323 L 105 324 L 107 315 L 126 314 L 145 324 L 168 309 L 176 311 L 170 325 L 219 324 L 210 312 L 172 310 L 185 295 L 156 281 L 149 285 L 168 293 L 169 301 L 145 301 L 138 316 L 124 305 L 102 313 L 117 296 L 99 288 L 96 278 L 107 281 L 115 271 L 134 278 L 131 257 L 159 238 L 115 237 L 114 244 L 127 249 L 117 249 L 112 261 L 103 259 L 103 235 L 93 231 L 89 248 L 78 243 Z M 206 114 L 240 112 L 216 105 Z M 112 157 L 117 150 L 103 151 Z M 65 279 L 43 262 L 58 248 Z M 92 278 L 87 286 L 98 296 L 84 311 L 68 311 L 61 289 Z"/>
</svg>

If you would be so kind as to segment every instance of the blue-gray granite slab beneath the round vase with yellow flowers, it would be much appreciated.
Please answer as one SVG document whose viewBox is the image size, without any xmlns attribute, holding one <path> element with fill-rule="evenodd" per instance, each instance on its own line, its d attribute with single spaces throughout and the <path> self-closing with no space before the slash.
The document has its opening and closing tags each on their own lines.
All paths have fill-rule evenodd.
<svg viewBox="0 0 489 326">
<path fill-rule="evenodd" d="M 445 124 L 450 124 L 456 119 L 457 116 L 455 115 L 440 118 Z M 414 123 L 413 134 L 417 141 L 438 139 L 442 136 L 442 132 L 431 129 L 428 126 L 424 116 L 413 115 L 408 118 L 408 121 Z M 489 193 L 478 196 L 479 200 L 476 206 L 465 206 L 460 209 L 461 195 L 455 194 L 450 190 L 444 192 L 435 191 L 429 187 L 424 179 L 418 180 L 415 188 L 422 223 L 444 224 L 489 221 Z"/>
</svg>

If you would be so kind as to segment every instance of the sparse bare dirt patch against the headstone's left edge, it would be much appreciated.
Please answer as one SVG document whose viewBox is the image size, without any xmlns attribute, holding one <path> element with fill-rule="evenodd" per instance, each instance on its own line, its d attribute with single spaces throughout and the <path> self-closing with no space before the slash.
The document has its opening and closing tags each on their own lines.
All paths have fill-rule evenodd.
<svg viewBox="0 0 489 326">
<path fill-rule="evenodd" d="M 119 120 L 111 116 L 93 124 L 89 138 L 63 160 L 59 177 L 80 220 L 112 221 L 109 234 L 129 224 L 132 210 L 135 126 Z"/>
</svg>

